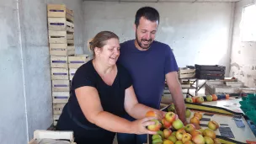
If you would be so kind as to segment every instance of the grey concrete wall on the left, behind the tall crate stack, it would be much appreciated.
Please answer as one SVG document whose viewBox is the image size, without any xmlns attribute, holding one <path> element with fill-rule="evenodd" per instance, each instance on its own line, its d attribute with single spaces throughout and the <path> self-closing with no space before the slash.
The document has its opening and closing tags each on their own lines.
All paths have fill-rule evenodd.
<svg viewBox="0 0 256 144">
<path fill-rule="evenodd" d="M 83 53 L 82 0 L 0 0 L 0 141 L 26 144 L 52 123 L 47 3 L 75 15 L 75 47 Z"/>
</svg>

